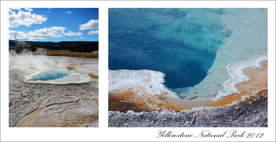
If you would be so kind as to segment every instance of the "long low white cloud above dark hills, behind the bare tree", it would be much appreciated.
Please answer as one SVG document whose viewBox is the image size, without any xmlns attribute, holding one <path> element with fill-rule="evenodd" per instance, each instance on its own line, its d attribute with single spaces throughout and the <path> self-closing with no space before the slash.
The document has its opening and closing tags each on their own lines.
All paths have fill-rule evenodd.
<svg viewBox="0 0 276 142">
<path fill-rule="evenodd" d="M 30 31 L 30 32 L 21 32 L 21 31 L 13 31 L 9 30 L 9 39 L 13 39 L 12 37 L 16 34 L 18 36 L 18 40 L 20 41 L 37 41 L 41 39 L 47 39 L 47 38 L 60 38 L 64 37 L 61 35 L 57 35 L 58 31 L 51 30 L 49 28 L 44 28 L 40 30 Z"/>
</svg>

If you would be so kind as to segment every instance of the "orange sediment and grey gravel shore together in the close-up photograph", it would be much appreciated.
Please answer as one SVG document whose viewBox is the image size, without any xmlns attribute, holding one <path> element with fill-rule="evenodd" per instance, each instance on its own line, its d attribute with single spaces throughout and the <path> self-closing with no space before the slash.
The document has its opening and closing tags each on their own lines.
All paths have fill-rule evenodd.
<svg viewBox="0 0 276 142">
<path fill-rule="evenodd" d="M 267 60 L 243 74 L 251 79 L 236 84 L 241 93 L 220 99 L 141 95 L 139 86 L 110 91 L 109 127 L 187 127 L 194 117 L 192 127 L 267 127 Z"/>
</svg>

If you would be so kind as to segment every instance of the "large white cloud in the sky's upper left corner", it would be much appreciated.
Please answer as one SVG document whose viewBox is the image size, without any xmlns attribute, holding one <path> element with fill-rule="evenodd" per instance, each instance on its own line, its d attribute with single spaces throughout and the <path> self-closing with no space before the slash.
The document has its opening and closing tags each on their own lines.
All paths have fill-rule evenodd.
<svg viewBox="0 0 276 142">
<path fill-rule="evenodd" d="M 31 12 L 19 11 L 17 14 L 9 9 L 9 27 L 14 28 L 20 25 L 30 27 L 31 24 L 42 24 L 47 21 L 47 17 L 31 14 Z"/>
</svg>

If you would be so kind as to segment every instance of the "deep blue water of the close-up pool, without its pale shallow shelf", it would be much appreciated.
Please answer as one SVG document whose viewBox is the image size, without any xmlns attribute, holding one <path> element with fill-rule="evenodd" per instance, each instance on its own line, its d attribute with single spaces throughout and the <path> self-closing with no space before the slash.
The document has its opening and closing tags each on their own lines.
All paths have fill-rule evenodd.
<svg viewBox="0 0 276 142">
<path fill-rule="evenodd" d="M 200 83 L 222 33 L 220 9 L 109 9 L 110 70 L 154 70 L 171 89 Z"/>
</svg>

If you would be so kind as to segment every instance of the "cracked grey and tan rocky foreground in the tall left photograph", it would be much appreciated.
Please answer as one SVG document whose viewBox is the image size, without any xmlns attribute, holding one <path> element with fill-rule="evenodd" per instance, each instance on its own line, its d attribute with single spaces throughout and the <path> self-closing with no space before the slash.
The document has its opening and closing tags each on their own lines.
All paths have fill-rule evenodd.
<svg viewBox="0 0 276 142">
<path fill-rule="evenodd" d="M 21 72 L 9 67 L 9 127 L 98 127 L 97 81 L 36 84 Z"/>
</svg>

